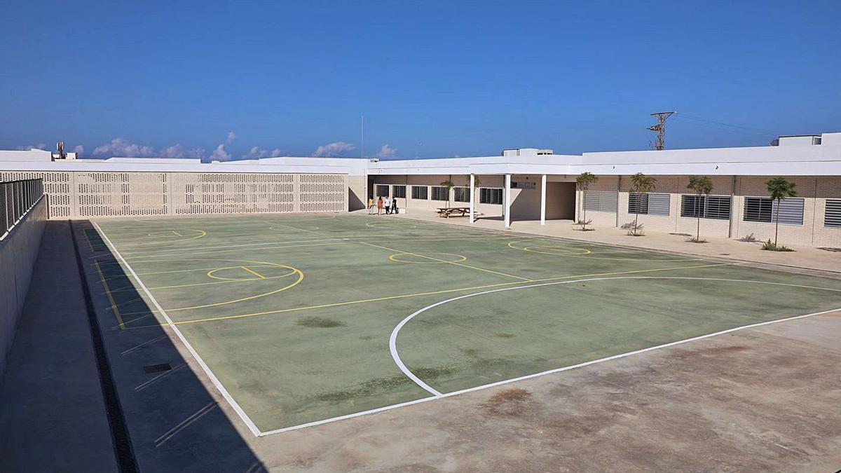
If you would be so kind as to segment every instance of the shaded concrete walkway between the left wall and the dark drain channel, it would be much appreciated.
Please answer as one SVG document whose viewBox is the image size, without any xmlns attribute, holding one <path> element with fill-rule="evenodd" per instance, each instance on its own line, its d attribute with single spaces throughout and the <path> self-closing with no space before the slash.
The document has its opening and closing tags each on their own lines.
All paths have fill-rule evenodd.
<svg viewBox="0 0 841 473">
<path fill-rule="evenodd" d="M 116 471 L 76 253 L 47 221 L 0 382 L 0 471 Z"/>
</svg>

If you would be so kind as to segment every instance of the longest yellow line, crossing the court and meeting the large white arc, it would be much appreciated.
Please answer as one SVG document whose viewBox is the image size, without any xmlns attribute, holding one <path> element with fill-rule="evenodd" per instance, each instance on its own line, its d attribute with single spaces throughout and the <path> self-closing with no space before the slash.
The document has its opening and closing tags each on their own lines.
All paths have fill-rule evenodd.
<svg viewBox="0 0 841 473">
<path fill-rule="evenodd" d="M 717 263 L 717 264 L 706 264 L 702 266 L 685 266 L 680 268 L 656 268 L 656 269 L 636 269 L 633 271 L 616 271 L 612 273 L 595 273 L 595 274 L 576 274 L 572 276 L 558 276 L 555 278 L 547 278 L 547 279 L 534 279 L 532 282 L 545 282 L 545 281 L 554 281 L 559 279 L 575 279 L 575 278 L 589 278 L 595 276 L 616 276 L 619 274 L 635 274 L 635 273 L 651 273 L 654 271 L 673 271 L 678 269 L 694 269 L 694 268 L 713 268 L 717 266 L 733 266 L 738 265 L 741 263 Z M 204 319 L 195 319 L 189 321 L 181 321 L 181 322 L 173 322 L 174 325 L 183 325 L 188 323 L 198 323 L 198 322 L 214 322 L 220 320 L 230 320 L 230 319 L 241 319 L 246 317 L 253 317 L 253 316 L 267 316 L 272 314 L 282 314 L 284 312 L 296 312 L 296 311 L 309 311 L 313 309 L 324 309 L 326 307 L 336 307 L 336 306 L 349 306 L 353 304 L 362 304 L 367 302 L 378 302 L 381 300 L 394 300 L 394 299 L 405 299 L 407 297 L 419 297 L 422 295 L 436 295 L 436 294 L 447 294 L 450 292 L 458 292 L 463 290 L 477 290 L 477 289 L 487 289 L 492 287 L 499 287 L 499 286 L 506 286 L 510 284 L 520 284 L 520 281 L 512 281 L 509 283 L 497 283 L 497 284 L 485 284 L 481 286 L 473 286 L 473 287 L 465 287 L 465 288 L 458 288 L 458 289 L 447 289 L 447 290 L 433 290 L 430 292 L 419 292 L 415 294 L 403 294 L 403 295 L 387 295 L 383 297 L 375 297 L 373 299 L 362 299 L 362 300 L 348 300 L 345 302 L 332 302 L 330 304 L 320 304 L 318 306 L 305 306 L 305 307 L 291 307 L 288 309 L 279 309 L 278 311 L 265 311 L 265 312 L 254 312 L 251 314 L 241 314 L 238 316 L 218 316 L 218 317 L 207 317 Z M 171 311 L 171 310 L 169 310 Z M 152 311 L 154 312 L 154 311 Z M 140 313 L 140 312 L 138 312 Z M 143 318 L 143 317 L 141 317 Z M 159 327 L 159 325 L 146 325 L 141 327 L 132 327 L 132 328 L 149 328 L 149 327 Z"/>
</svg>

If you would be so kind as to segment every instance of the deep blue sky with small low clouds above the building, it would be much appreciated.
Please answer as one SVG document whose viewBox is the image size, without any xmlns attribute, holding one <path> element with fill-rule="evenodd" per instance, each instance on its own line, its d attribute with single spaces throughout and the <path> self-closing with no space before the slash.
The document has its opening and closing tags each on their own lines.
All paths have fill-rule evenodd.
<svg viewBox="0 0 841 473">
<path fill-rule="evenodd" d="M 368 156 L 580 153 L 648 149 L 664 110 L 667 147 L 763 146 L 841 131 L 839 17 L 837 0 L 11 2 L 0 149 L 359 156 L 365 114 Z"/>
</svg>

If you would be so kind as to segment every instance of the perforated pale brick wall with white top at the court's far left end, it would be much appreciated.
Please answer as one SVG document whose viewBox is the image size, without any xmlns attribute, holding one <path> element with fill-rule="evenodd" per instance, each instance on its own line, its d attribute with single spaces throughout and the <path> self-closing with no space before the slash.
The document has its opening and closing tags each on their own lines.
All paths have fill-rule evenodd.
<svg viewBox="0 0 841 473">
<path fill-rule="evenodd" d="M 0 171 L 44 180 L 50 218 L 346 212 L 344 173 Z"/>
</svg>

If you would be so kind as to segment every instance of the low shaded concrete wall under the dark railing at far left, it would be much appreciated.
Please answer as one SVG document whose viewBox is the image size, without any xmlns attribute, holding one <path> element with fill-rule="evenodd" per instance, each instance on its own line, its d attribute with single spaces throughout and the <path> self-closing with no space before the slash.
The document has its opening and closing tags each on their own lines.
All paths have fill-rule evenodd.
<svg viewBox="0 0 841 473">
<path fill-rule="evenodd" d="M 42 198 L 0 240 L 0 375 L 6 367 L 6 355 L 24 308 L 46 218 L 46 199 Z"/>
</svg>

